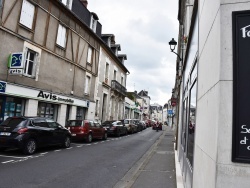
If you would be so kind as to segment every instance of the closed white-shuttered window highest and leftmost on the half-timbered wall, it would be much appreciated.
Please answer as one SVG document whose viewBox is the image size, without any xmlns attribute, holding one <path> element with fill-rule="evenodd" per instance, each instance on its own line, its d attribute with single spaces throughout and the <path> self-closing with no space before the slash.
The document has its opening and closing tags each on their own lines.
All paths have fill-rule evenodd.
<svg viewBox="0 0 250 188">
<path fill-rule="evenodd" d="M 20 23 L 29 29 L 33 28 L 33 21 L 35 15 L 35 5 L 27 0 L 23 0 L 22 10 L 20 15 Z"/>
</svg>

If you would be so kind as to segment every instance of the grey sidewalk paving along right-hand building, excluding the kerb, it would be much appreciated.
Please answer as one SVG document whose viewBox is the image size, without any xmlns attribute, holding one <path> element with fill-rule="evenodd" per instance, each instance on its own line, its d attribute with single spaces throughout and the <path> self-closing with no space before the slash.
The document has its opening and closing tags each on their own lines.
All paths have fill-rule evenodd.
<svg viewBox="0 0 250 188">
<path fill-rule="evenodd" d="M 152 157 L 142 165 L 132 188 L 176 188 L 174 132 L 164 126 L 164 132 L 153 149 Z"/>
</svg>

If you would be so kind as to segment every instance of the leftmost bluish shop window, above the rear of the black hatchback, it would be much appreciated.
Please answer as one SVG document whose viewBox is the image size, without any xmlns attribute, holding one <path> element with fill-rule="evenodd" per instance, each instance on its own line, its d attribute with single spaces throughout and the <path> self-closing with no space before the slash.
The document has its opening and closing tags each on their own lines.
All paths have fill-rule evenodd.
<svg viewBox="0 0 250 188">
<path fill-rule="evenodd" d="M 13 116 L 23 116 L 24 115 L 25 100 L 14 97 L 6 97 L 4 119 Z"/>
</svg>

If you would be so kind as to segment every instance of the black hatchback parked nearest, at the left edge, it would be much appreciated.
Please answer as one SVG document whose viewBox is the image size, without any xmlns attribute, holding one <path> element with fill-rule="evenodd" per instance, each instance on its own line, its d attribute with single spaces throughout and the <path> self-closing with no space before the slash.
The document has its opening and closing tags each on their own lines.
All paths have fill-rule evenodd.
<svg viewBox="0 0 250 188">
<path fill-rule="evenodd" d="M 9 117 L 0 124 L 0 149 L 19 148 L 31 155 L 38 147 L 70 147 L 71 134 L 62 125 L 43 117 Z"/>
</svg>

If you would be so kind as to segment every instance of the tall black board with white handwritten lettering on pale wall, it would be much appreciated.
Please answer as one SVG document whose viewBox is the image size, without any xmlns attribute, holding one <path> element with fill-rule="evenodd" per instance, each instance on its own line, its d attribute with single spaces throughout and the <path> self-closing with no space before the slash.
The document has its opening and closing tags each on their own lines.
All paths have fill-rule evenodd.
<svg viewBox="0 0 250 188">
<path fill-rule="evenodd" d="M 232 161 L 250 163 L 250 11 L 233 12 Z"/>
</svg>

